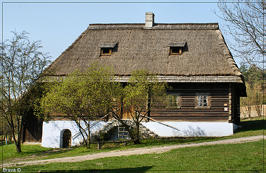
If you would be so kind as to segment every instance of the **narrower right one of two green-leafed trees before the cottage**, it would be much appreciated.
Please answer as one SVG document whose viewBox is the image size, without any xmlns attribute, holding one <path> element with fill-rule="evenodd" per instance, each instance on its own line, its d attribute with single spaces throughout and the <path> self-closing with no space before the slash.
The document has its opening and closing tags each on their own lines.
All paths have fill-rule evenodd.
<svg viewBox="0 0 266 173">
<path fill-rule="evenodd" d="M 136 70 L 123 88 L 119 108 L 127 109 L 134 127 L 129 127 L 122 120 L 121 111 L 113 112 L 115 118 L 128 130 L 131 139 L 136 139 L 135 143 L 140 142 L 140 122 L 147 116 L 154 103 L 162 101 L 165 97 L 166 83 L 159 82 L 157 77 L 146 70 Z"/>
</svg>

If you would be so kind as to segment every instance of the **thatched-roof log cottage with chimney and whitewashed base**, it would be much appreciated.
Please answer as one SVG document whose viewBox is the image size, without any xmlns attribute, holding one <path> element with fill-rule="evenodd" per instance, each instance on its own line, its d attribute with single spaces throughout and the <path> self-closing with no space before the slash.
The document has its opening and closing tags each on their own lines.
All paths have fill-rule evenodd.
<svg viewBox="0 0 266 173">
<path fill-rule="evenodd" d="M 145 23 L 90 24 L 48 69 L 61 77 L 93 62 L 112 66 L 120 82 L 147 69 L 172 86 L 172 104 L 149 116 L 181 131 L 143 122 L 159 136 L 224 136 L 239 125 L 245 82 L 218 23 L 154 23 L 146 13 Z"/>
</svg>

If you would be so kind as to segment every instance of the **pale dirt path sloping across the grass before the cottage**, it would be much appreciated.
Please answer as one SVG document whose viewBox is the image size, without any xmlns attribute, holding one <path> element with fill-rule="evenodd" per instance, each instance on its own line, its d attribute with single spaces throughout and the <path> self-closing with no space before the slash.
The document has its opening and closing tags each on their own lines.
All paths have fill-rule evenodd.
<svg viewBox="0 0 266 173">
<path fill-rule="evenodd" d="M 35 165 L 35 164 L 47 164 L 47 163 L 55 163 L 55 162 L 81 162 L 85 160 L 93 160 L 93 159 L 99 159 L 99 158 L 104 158 L 104 157 L 142 155 L 142 154 L 151 154 L 151 153 L 159 154 L 159 153 L 168 152 L 173 149 L 179 149 L 179 148 L 190 147 L 190 146 L 253 142 L 253 141 L 261 140 L 262 137 L 263 136 L 251 136 L 251 137 L 218 140 L 218 141 L 212 141 L 212 142 L 143 147 L 143 148 L 137 148 L 137 149 L 103 152 L 103 153 L 88 154 L 84 156 L 75 156 L 75 157 L 65 157 L 65 158 L 56 158 L 56 159 L 47 159 L 47 160 L 35 160 L 35 161 L 22 161 L 22 162 L 16 162 L 16 163 L 5 163 L 3 164 L 3 167 L 12 167 L 16 165 L 25 166 L 25 165 Z"/>
</svg>

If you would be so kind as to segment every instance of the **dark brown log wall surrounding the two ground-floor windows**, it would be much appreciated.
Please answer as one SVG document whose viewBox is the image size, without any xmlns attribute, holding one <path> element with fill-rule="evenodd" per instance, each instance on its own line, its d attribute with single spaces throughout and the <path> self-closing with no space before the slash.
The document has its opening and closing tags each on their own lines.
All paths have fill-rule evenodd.
<svg viewBox="0 0 266 173">
<path fill-rule="evenodd" d="M 166 108 L 165 103 L 155 103 L 151 108 L 151 118 L 159 121 L 229 121 L 229 113 L 234 113 L 231 111 L 229 84 L 170 85 L 172 89 L 167 92 L 180 94 L 180 107 Z M 209 93 L 209 108 L 196 107 L 196 93 Z"/>
</svg>

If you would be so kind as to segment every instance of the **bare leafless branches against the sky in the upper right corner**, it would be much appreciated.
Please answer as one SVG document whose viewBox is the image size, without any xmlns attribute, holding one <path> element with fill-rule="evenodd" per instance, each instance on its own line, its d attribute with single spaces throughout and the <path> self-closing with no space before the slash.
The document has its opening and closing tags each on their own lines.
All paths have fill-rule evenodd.
<svg viewBox="0 0 266 173">
<path fill-rule="evenodd" d="M 236 56 L 263 70 L 266 34 L 266 2 L 258 0 L 220 0 L 220 18 L 226 21 L 226 32 L 234 39 L 229 43 Z"/>
</svg>

